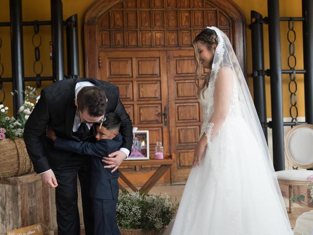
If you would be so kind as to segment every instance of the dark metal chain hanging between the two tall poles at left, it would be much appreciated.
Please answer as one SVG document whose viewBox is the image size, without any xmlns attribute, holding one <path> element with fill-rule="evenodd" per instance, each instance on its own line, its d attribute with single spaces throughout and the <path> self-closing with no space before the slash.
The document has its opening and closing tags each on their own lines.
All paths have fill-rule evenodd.
<svg viewBox="0 0 313 235">
<path fill-rule="evenodd" d="M 33 71 L 36 74 L 36 85 L 37 88 L 41 87 L 41 74 L 43 72 L 43 63 L 40 61 L 40 46 L 41 46 L 41 36 L 39 34 L 39 25 L 36 24 L 37 21 L 35 21 L 34 24 L 34 35 L 32 38 L 32 44 L 35 47 L 34 52 L 35 52 L 35 62 L 33 64 Z M 37 41 L 37 44 L 36 44 Z M 37 68 L 37 69 L 36 69 Z"/>
</svg>

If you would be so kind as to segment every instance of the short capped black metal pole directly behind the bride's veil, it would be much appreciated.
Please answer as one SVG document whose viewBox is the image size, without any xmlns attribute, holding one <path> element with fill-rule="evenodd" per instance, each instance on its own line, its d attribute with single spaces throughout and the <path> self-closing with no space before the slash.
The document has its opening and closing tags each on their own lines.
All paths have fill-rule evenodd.
<svg viewBox="0 0 313 235">
<path fill-rule="evenodd" d="M 250 28 L 251 28 L 251 41 L 252 41 L 252 70 L 253 71 L 264 71 L 262 19 L 263 19 L 262 15 L 260 13 L 256 11 L 251 11 Z M 253 72 L 253 96 L 254 96 L 255 109 L 258 113 L 265 139 L 266 141 L 268 141 L 264 75 L 257 75 L 257 74 L 254 74 L 254 72 Z"/>
</svg>

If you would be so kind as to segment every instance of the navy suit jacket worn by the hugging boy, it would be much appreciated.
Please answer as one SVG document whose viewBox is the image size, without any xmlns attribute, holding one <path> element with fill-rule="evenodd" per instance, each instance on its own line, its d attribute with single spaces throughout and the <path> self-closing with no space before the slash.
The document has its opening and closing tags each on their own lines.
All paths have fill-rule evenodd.
<svg viewBox="0 0 313 235">
<path fill-rule="evenodd" d="M 118 170 L 104 168 L 101 161 L 103 156 L 117 151 L 122 144 L 122 136 L 119 134 L 113 140 L 100 140 L 93 142 L 77 142 L 58 137 L 54 147 L 61 150 L 90 155 L 91 157 L 91 181 L 90 196 L 99 199 L 116 199 L 118 196 Z"/>
</svg>

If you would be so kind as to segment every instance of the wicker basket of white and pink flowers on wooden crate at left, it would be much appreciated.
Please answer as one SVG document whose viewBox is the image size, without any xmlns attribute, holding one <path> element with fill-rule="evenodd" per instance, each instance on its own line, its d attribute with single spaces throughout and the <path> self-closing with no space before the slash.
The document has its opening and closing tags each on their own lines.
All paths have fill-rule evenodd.
<svg viewBox="0 0 313 235">
<path fill-rule="evenodd" d="M 14 95 L 15 91 L 12 93 Z M 33 165 L 22 139 L 27 118 L 34 109 L 32 99 L 38 101 L 36 88 L 25 87 L 23 105 L 17 118 L 8 116 L 8 107 L 0 104 L 0 177 L 21 175 L 33 171 Z"/>
</svg>

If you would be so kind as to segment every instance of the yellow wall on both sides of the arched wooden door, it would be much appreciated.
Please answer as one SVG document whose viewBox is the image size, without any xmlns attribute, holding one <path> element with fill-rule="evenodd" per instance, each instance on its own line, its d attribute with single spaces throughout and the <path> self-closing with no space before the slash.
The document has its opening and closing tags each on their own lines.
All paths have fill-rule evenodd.
<svg viewBox="0 0 313 235">
<path fill-rule="evenodd" d="M 246 26 L 250 24 L 250 11 L 255 10 L 263 15 L 267 16 L 267 1 L 266 0 L 234 0 L 234 2 L 243 10 L 246 16 Z M 88 7 L 93 3 L 93 0 L 63 0 L 63 18 L 66 20 L 73 14 L 78 14 L 79 22 L 79 46 L 80 46 L 80 75 L 84 75 L 84 64 L 83 64 L 83 53 L 82 53 L 82 23 L 84 20 L 84 14 Z M 291 2 L 288 0 L 280 0 L 280 16 L 281 17 L 300 17 L 301 13 L 301 1 L 296 0 Z M 23 21 L 48 21 L 50 20 L 50 0 L 22 0 L 22 17 Z M 8 22 L 10 19 L 9 15 L 9 0 L 0 1 L 0 22 Z M 287 41 L 287 23 L 281 23 L 281 51 L 282 51 L 282 68 L 288 69 L 287 56 L 288 56 L 288 41 Z M 303 69 L 303 55 L 302 55 L 302 23 L 295 23 L 295 31 L 297 32 L 296 44 L 295 44 L 295 55 L 297 57 L 296 69 Z M 49 41 L 50 39 L 50 26 L 40 26 L 40 34 L 42 36 L 42 47 L 41 50 L 41 61 L 44 64 L 44 71 L 42 75 L 49 76 L 52 74 L 52 63 L 49 59 Z M 34 47 L 31 44 L 33 35 L 33 27 L 24 27 L 24 57 L 25 57 L 25 76 L 34 76 L 33 62 L 34 58 Z M 11 76 L 11 55 L 10 55 L 10 30 L 9 27 L 0 27 L 0 37 L 2 38 L 2 47 L 0 48 L 1 63 L 4 65 L 3 77 Z M 251 55 L 251 31 L 246 28 L 246 51 L 247 51 L 247 69 L 248 74 L 252 73 L 252 55 Z M 66 51 L 66 48 L 65 48 Z M 269 56 L 268 56 L 268 25 L 264 25 L 264 52 L 265 52 L 265 69 L 269 68 Z M 65 58 L 66 62 L 66 58 Z M 283 75 L 283 100 L 284 100 L 284 117 L 289 117 L 289 91 L 288 91 L 289 75 Z M 51 82 L 44 82 L 43 87 L 50 84 Z M 304 114 L 304 89 L 303 89 L 303 76 L 297 75 L 298 83 L 298 102 L 297 107 L 299 110 L 299 117 L 305 116 Z M 27 83 L 35 87 L 34 82 Z M 250 91 L 252 91 L 252 78 L 249 75 L 248 85 Z M 267 112 L 268 118 L 270 115 L 270 87 L 269 77 L 266 77 L 266 94 L 267 94 Z M 4 83 L 4 91 L 6 98 L 4 105 L 10 108 L 10 115 L 12 115 L 12 97 L 11 97 L 11 83 Z M 0 93 L 0 100 L 2 98 Z"/>
</svg>

